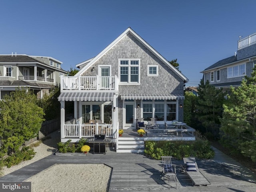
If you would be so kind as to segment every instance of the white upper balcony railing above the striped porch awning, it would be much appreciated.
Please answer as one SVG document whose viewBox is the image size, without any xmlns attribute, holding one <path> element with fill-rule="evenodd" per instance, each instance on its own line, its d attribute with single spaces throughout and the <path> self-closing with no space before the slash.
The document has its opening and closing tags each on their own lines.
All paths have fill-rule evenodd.
<svg viewBox="0 0 256 192">
<path fill-rule="evenodd" d="M 61 90 L 118 90 L 117 76 L 61 77 Z"/>
</svg>

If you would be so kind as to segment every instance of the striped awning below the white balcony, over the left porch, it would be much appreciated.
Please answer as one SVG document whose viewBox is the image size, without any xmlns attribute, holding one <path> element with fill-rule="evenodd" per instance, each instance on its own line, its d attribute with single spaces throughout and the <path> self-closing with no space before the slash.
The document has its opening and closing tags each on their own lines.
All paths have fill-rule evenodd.
<svg viewBox="0 0 256 192">
<path fill-rule="evenodd" d="M 113 101 L 114 93 L 109 92 L 64 92 L 58 101 Z"/>
</svg>

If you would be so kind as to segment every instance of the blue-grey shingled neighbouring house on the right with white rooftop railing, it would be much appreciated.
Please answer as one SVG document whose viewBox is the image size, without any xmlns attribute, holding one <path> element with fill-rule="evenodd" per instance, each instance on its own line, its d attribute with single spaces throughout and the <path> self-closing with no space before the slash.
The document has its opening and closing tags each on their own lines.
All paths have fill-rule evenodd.
<svg viewBox="0 0 256 192">
<path fill-rule="evenodd" d="M 207 80 L 216 88 L 228 90 L 230 86 L 241 85 L 245 75 L 251 76 L 256 63 L 256 33 L 238 40 L 237 54 L 225 58 L 202 71 Z"/>
</svg>

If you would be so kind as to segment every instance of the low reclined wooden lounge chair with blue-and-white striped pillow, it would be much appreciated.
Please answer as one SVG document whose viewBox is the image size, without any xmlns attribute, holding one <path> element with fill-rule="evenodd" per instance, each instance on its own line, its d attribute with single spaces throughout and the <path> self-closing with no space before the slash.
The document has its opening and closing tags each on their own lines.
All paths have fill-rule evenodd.
<svg viewBox="0 0 256 192">
<path fill-rule="evenodd" d="M 185 165 L 185 168 L 183 167 L 183 169 L 188 174 L 189 178 L 192 180 L 192 186 L 207 186 L 211 184 L 198 169 L 196 158 L 183 158 L 183 162 Z"/>
</svg>

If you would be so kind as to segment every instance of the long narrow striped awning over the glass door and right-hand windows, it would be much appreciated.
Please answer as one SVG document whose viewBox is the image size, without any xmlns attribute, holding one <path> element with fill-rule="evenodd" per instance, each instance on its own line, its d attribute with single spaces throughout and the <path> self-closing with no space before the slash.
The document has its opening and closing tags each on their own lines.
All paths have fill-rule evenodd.
<svg viewBox="0 0 256 192">
<path fill-rule="evenodd" d="M 184 100 L 184 96 L 180 94 L 122 94 L 121 99 L 133 99 L 133 100 L 141 100 L 141 99 L 152 99 L 152 100 Z"/>
</svg>

